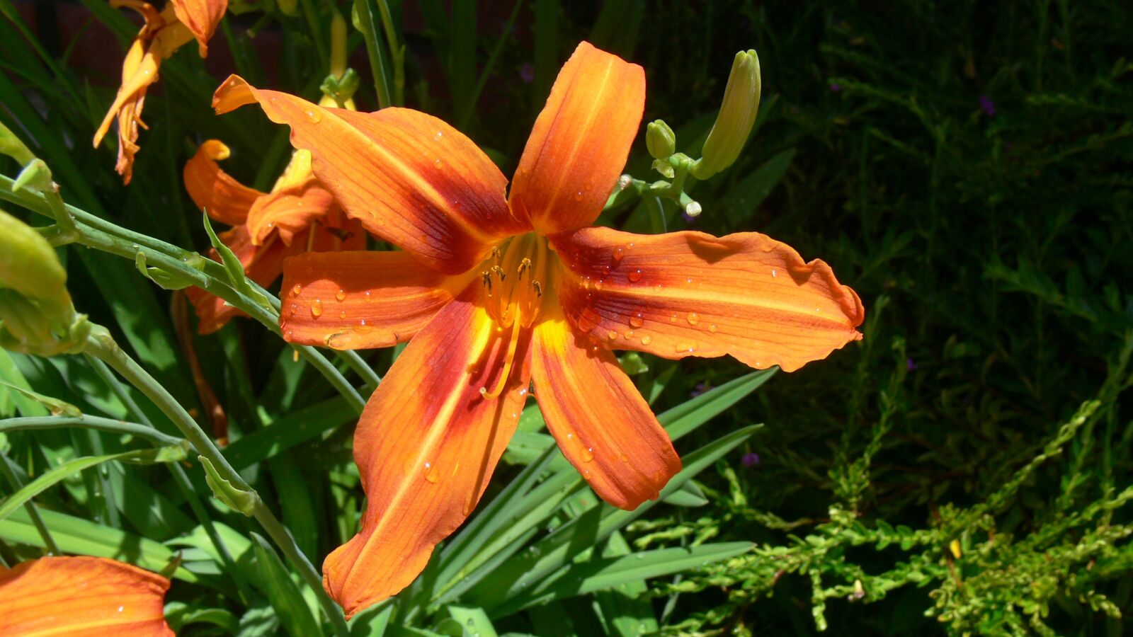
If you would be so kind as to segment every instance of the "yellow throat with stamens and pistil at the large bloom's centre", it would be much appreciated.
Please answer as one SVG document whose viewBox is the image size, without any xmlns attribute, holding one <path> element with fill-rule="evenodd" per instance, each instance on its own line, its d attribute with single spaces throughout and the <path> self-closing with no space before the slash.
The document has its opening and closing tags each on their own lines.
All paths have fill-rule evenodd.
<svg viewBox="0 0 1133 637">
<path fill-rule="evenodd" d="M 492 248 L 484 261 L 480 280 L 484 305 L 500 331 L 510 330 L 508 354 L 495 387 L 480 388 L 480 396 L 494 399 L 503 391 L 511 375 L 520 333 L 530 328 L 543 306 L 547 280 L 547 241 L 535 232 L 512 237 Z"/>
</svg>

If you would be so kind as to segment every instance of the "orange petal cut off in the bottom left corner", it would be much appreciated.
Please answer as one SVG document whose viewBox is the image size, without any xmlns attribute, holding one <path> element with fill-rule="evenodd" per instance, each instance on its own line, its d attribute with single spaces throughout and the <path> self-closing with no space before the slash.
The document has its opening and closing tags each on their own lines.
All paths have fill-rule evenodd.
<svg viewBox="0 0 1133 637">
<path fill-rule="evenodd" d="M 173 635 L 169 580 L 107 558 L 40 558 L 0 567 L 0 635 Z"/>
</svg>

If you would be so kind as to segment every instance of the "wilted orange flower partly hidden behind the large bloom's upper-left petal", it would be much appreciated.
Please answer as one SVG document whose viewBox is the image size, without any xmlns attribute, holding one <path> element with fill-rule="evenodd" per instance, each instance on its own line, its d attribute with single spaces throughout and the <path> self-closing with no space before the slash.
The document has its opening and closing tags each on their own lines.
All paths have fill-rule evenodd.
<svg viewBox="0 0 1133 637">
<path fill-rule="evenodd" d="M 249 188 L 224 172 L 216 161 L 229 154 L 228 146 L 218 139 L 202 144 L 185 164 L 185 188 L 211 219 L 232 226 L 218 238 L 232 248 L 249 279 L 271 286 L 290 255 L 366 248 L 361 226 L 346 218 L 334 196 L 312 173 L 308 151 L 296 151 L 271 193 Z M 215 249 L 208 256 L 220 261 Z M 197 311 L 202 334 L 244 315 L 201 288 L 187 289 L 186 296 Z"/>
</svg>

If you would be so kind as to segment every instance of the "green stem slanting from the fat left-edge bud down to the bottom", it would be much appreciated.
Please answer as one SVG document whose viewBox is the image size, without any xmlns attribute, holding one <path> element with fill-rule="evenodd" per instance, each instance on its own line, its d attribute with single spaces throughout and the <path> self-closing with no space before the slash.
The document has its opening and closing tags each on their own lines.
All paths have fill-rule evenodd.
<svg viewBox="0 0 1133 637">
<path fill-rule="evenodd" d="M 228 462 L 228 459 L 220 452 L 220 449 L 213 444 L 212 439 L 205 434 L 205 432 L 197 425 L 196 421 L 185 410 L 184 407 L 177 400 L 170 396 L 165 388 L 163 388 L 153 376 L 148 374 L 140 365 L 137 364 L 129 355 L 127 355 L 105 328 L 94 326 L 91 332 L 90 339 L 87 339 L 87 345 L 85 351 L 91 356 L 94 356 L 118 372 L 123 379 L 126 379 L 131 385 L 144 393 L 159 409 L 162 410 L 165 416 L 180 430 L 181 435 L 193 444 L 197 453 L 204 456 L 212 466 L 216 469 L 220 476 L 232 484 L 233 487 L 240 491 L 248 491 L 255 493 L 255 490 L 244 479 L 240 474 L 232 468 Z M 341 611 L 334 602 L 326 595 L 323 589 L 323 580 L 315 570 L 315 567 L 310 563 L 306 555 L 299 551 L 299 547 L 295 543 L 295 538 L 287 530 L 283 525 L 275 518 L 270 509 L 263 503 L 263 500 L 258 496 L 253 499 L 255 501 L 255 509 L 253 510 L 253 516 L 259 521 L 264 530 L 275 541 L 279 547 L 283 551 L 283 554 L 291 560 L 292 566 L 299 571 L 299 576 L 307 583 L 308 586 L 315 593 L 318 598 L 320 604 L 323 606 L 323 611 L 326 613 L 327 619 L 334 626 L 335 632 L 340 636 L 349 635 L 349 629 L 347 628 L 346 620 L 342 617 Z"/>
</svg>

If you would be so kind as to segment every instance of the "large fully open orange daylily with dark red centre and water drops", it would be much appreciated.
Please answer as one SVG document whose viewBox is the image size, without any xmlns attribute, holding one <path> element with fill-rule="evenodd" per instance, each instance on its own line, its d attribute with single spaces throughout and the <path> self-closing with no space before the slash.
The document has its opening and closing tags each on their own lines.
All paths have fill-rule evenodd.
<svg viewBox="0 0 1133 637">
<path fill-rule="evenodd" d="M 465 521 L 529 387 L 566 459 L 606 502 L 633 509 L 681 461 L 611 350 L 793 371 L 861 338 L 858 295 L 764 235 L 588 227 L 645 103 L 641 67 L 588 43 L 562 68 L 506 195 L 492 161 L 428 114 L 321 108 L 236 76 L 213 105 L 254 102 L 291 127 L 347 214 L 401 248 L 283 266 L 289 341 L 409 341 L 355 434 L 361 530 L 323 564 L 348 615 L 411 583 Z"/>
</svg>

